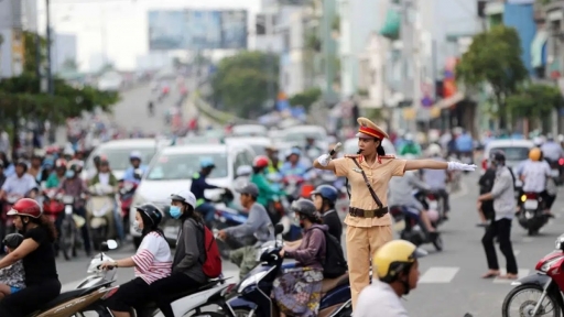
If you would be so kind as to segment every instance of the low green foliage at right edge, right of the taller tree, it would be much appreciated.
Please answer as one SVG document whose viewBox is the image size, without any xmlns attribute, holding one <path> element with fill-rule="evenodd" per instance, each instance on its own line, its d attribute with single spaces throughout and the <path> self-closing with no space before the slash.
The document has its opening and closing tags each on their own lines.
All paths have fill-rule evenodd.
<svg viewBox="0 0 564 317">
<path fill-rule="evenodd" d="M 532 84 L 520 87 L 507 98 L 507 108 L 513 118 L 544 119 L 562 105 L 562 94 L 555 86 Z"/>
</svg>

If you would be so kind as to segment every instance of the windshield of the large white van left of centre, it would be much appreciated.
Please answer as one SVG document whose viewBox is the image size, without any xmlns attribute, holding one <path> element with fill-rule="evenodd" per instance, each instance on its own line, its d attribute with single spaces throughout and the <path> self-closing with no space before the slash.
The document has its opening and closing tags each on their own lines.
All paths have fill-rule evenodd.
<svg viewBox="0 0 564 317">
<path fill-rule="evenodd" d="M 191 179 L 200 170 L 199 160 L 203 157 L 213 160 L 216 165 L 208 178 L 227 177 L 227 153 L 178 153 L 160 155 L 151 165 L 147 179 Z"/>
</svg>

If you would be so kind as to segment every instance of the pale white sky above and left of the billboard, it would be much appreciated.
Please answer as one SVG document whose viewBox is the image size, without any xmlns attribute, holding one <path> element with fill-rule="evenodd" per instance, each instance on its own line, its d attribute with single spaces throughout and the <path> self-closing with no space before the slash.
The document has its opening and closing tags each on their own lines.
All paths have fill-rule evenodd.
<svg viewBox="0 0 564 317">
<path fill-rule="evenodd" d="M 44 3 L 37 0 L 39 25 L 45 25 Z M 149 51 L 147 12 L 155 9 L 247 9 L 254 17 L 260 0 L 51 0 L 51 25 L 55 33 L 76 34 L 82 70 L 101 61 L 102 52 L 119 69 L 134 69 L 137 56 Z"/>
</svg>

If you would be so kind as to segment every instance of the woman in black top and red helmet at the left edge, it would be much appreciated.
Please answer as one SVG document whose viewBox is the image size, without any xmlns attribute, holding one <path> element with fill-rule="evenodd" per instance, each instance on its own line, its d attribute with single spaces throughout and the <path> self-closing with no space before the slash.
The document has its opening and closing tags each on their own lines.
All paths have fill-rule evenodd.
<svg viewBox="0 0 564 317">
<path fill-rule="evenodd" d="M 61 294 L 53 252 L 57 232 L 33 199 L 18 200 L 8 216 L 13 216 L 15 228 L 23 233 L 23 242 L 0 260 L 0 270 L 22 260 L 25 288 L 0 300 L 0 316 L 21 317 L 40 309 Z"/>
</svg>

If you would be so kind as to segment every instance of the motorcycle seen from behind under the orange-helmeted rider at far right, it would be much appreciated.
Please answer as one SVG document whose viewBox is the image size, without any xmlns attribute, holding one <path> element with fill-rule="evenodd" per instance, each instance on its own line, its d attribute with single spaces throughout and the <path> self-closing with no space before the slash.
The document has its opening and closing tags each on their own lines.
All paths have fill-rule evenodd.
<svg viewBox="0 0 564 317">
<path fill-rule="evenodd" d="M 539 233 L 539 230 L 549 222 L 544 214 L 542 198 L 536 193 L 523 193 L 520 197 L 518 220 L 519 225 L 528 231 L 529 236 Z"/>
</svg>

